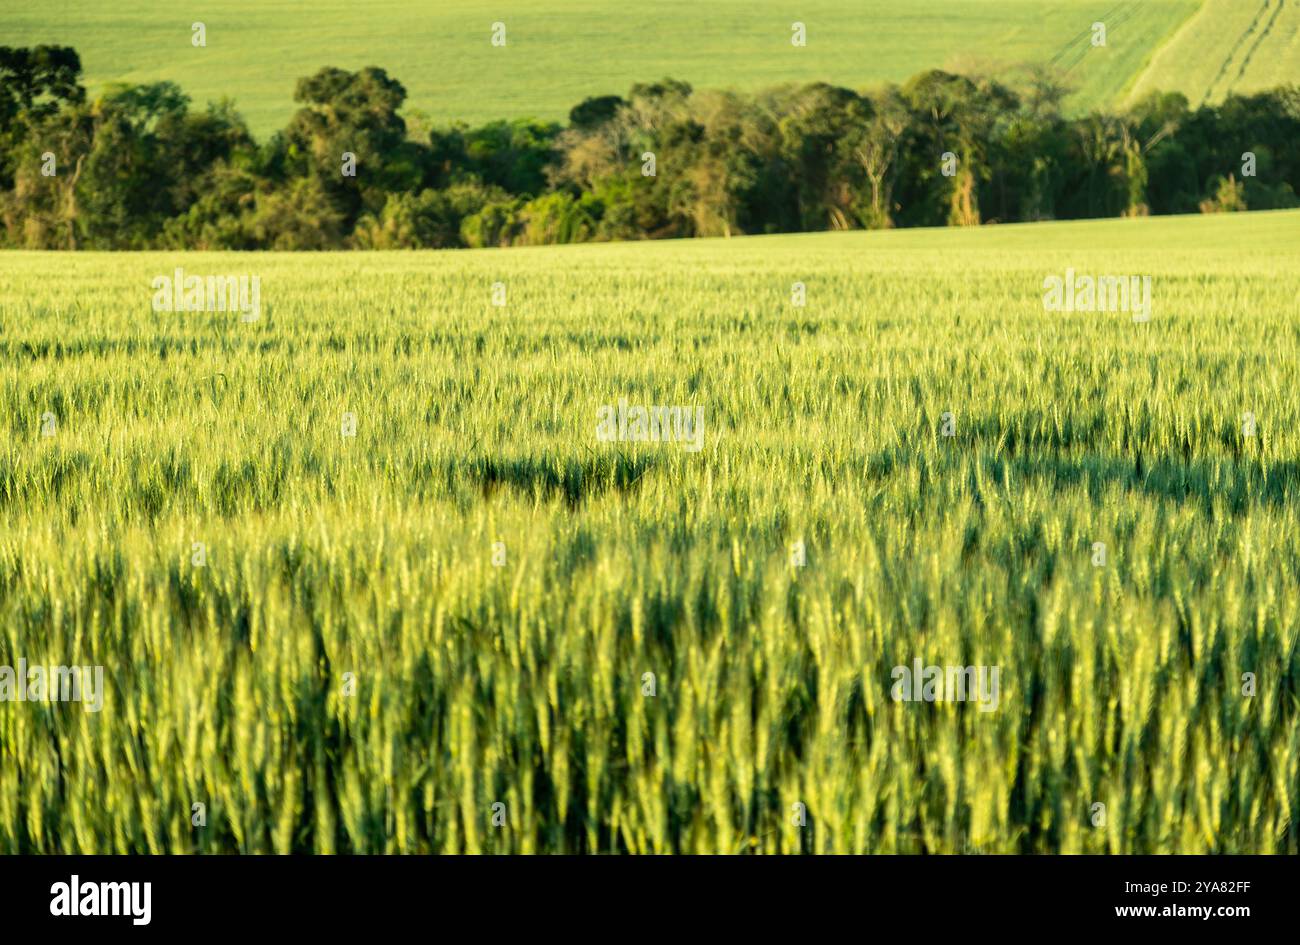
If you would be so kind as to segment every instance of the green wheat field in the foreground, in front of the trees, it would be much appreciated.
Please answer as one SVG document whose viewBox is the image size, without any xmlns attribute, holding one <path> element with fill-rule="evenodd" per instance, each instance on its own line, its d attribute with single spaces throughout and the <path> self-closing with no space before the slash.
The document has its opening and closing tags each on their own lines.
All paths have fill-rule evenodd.
<svg viewBox="0 0 1300 945">
<path fill-rule="evenodd" d="M 108 693 L 0 703 L 0 851 L 1297 853 L 1297 213 L 10 253 L 0 664 Z M 153 312 L 177 265 L 263 317 Z M 1152 320 L 1044 311 L 1067 268 Z M 601 442 L 621 398 L 703 448 Z"/>
</svg>

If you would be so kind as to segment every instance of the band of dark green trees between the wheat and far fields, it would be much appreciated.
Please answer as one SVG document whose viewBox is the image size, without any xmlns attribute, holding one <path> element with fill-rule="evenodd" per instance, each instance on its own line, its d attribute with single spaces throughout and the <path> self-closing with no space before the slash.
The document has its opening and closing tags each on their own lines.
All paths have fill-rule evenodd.
<svg viewBox="0 0 1300 945">
<path fill-rule="evenodd" d="M 1049 71 L 853 91 L 684 82 L 567 123 L 434 126 L 385 70 L 296 83 L 255 140 L 172 82 L 90 99 L 74 49 L 0 47 L 0 242 L 27 248 L 484 247 L 1300 205 L 1300 87 L 1067 117 Z"/>
</svg>

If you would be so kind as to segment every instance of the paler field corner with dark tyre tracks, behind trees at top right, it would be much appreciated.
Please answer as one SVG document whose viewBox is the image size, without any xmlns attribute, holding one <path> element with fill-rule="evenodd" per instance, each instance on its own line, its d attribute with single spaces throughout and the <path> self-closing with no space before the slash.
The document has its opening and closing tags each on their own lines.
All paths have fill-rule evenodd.
<svg viewBox="0 0 1300 945">
<path fill-rule="evenodd" d="M 1134 96 L 1179 90 L 1193 105 L 1300 82 L 1300 3 L 1206 0 L 1152 61 Z"/>
</svg>

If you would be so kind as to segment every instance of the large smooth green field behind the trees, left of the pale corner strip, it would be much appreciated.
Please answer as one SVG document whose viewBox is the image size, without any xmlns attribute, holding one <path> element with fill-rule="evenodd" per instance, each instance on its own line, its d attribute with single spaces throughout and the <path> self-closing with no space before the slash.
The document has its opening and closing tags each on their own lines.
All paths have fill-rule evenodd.
<svg viewBox="0 0 1300 945">
<path fill-rule="evenodd" d="M 861 87 L 935 66 L 1005 71 L 1053 61 L 1079 86 L 1076 107 L 1110 101 L 1199 0 L 322 0 L 248 4 L 65 0 L 5 4 L 6 44 L 64 43 L 94 86 L 172 79 L 203 103 L 230 95 L 259 134 L 292 112 L 294 81 L 322 65 L 380 65 L 436 121 L 563 118 L 588 95 L 664 75 L 697 87 L 831 81 Z M 790 44 L 790 23 L 809 44 Z M 1093 21 L 1110 27 L 1093 49 Z M 207 25 L 208 45 L 190 44 Z M 507 25 L 507 45 L 489 43 Z"/>
</svg>

